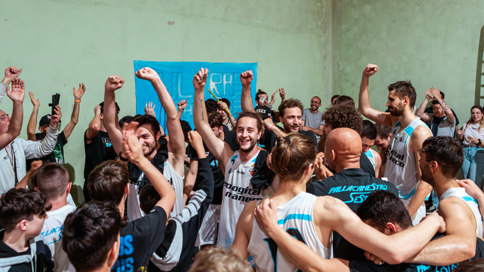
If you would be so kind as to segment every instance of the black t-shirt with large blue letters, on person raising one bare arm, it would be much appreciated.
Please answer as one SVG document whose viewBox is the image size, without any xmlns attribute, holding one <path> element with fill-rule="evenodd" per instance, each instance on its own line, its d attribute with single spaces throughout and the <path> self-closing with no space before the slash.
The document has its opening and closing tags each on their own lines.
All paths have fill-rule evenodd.
<svg viewBox="0 0 484 272">
<path fill-rule="evenodd" d="M 119 256 L 111 271 L 146 271 L 148 260 L 165 238 L 166 213 L 154 207 L 146 216 L 121 229 Z"/>
</svg>

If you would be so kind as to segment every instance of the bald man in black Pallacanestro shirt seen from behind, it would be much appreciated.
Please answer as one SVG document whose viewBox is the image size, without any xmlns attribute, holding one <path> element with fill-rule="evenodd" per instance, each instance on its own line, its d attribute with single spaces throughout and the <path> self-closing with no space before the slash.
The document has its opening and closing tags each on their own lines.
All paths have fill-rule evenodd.
<svg viewBox="0 0 484 272">
<path fill-rule="evenodd" d="M 390 191 L 398 196 L 398 190 L 391 182 L 375 178 L 360 168 L 361 137 L 349 128 L 333 129 L 327 136 L 325 158 L 334 176 L 317 180 L 307 185 L 306 191 L 316 196 L 338 198 L 356 213 L 367 196 L 373 191 Z M 351 244 L 334 236 L 334 257 L 345 260 L 361 260 L 363 251 L 356 250 Z"/>
</svg>

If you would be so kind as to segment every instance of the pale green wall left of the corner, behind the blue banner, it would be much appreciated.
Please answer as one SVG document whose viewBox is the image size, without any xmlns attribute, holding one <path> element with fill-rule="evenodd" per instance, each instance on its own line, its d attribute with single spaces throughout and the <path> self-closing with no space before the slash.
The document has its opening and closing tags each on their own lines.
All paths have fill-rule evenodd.
<svg viewBox="0 0 484 272">
<path fill-rule="evenodd" d="M 108 76 L 126 80 L 117 91 L 120 116 L 134 114 L 134 59 L 257 62 L 258 88 L 270 93 L 284 87 L 288 97 L 309 107 L 314 94 L 323 101 L 330 96 L 330 6 L 325 0 L 0 1 L 1 69 L 23 68 L 26 91 L 41 101 L 39 117 L 59 92 L 64 125 L 74 103 L 72 87 L 85 83 L 79 123 L 64 147 L 78 186 L 72 195 L 82 202 L 83 133 Z M 11 112 L 8 98 L 1 109 Z M 28 96 L 24 109 L 26 138 Z"/>
</svg>

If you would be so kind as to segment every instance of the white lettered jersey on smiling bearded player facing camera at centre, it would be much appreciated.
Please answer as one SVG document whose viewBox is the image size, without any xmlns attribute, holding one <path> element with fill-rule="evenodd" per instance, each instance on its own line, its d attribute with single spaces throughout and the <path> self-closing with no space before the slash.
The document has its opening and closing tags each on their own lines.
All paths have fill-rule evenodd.
<svg viewBox="0 0 484 272">
<path fill-rule="evenodd" d="M 228 249 L 234 242 L 235 227 L 243 208 L 252 200 L 262 200 L 272 189 L 254 189 L 250 180 L 254 174 L 254 165 L 260 151 L 247 163 L 242 163 L 239 151 L 225 165 L 225 182 L 220 210 L 219 235 L 217 244 Z M 262 194 L 262 196 L 261 196 Z"/>
</svg>

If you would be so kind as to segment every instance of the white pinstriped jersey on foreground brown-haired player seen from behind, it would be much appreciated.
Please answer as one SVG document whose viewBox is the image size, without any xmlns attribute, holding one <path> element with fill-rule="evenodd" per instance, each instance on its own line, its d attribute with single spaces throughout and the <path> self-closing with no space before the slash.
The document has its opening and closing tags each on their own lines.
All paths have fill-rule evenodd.
<svg viewBox="0 0 484 272">
<path fill-rule="evenodd" d="M 316 234 L 316 229 L 314 229 L 314 222 L 312 222 L 312 211 L 316 198 L 316 196 L 310 193 L 301 192 L 292 200 L 277 207 L 279 219 L 277 223 L 287 233 L 305 243 L 307 247 L 310 247 L 322 258 L 330 259 L 332 257 L 331 245 L 328 249 L 321 243 Z M 258 272 L 298 271 L 297 267 L 285 257 L 284 253 L 279 251 L 274 240 L 268 238 L 261 231 L 256 220 L 254 220 L 252 225 L 252 235 L 250 236 L 247 250 L 254 258 L 256 271 Z"/>
</svg>

